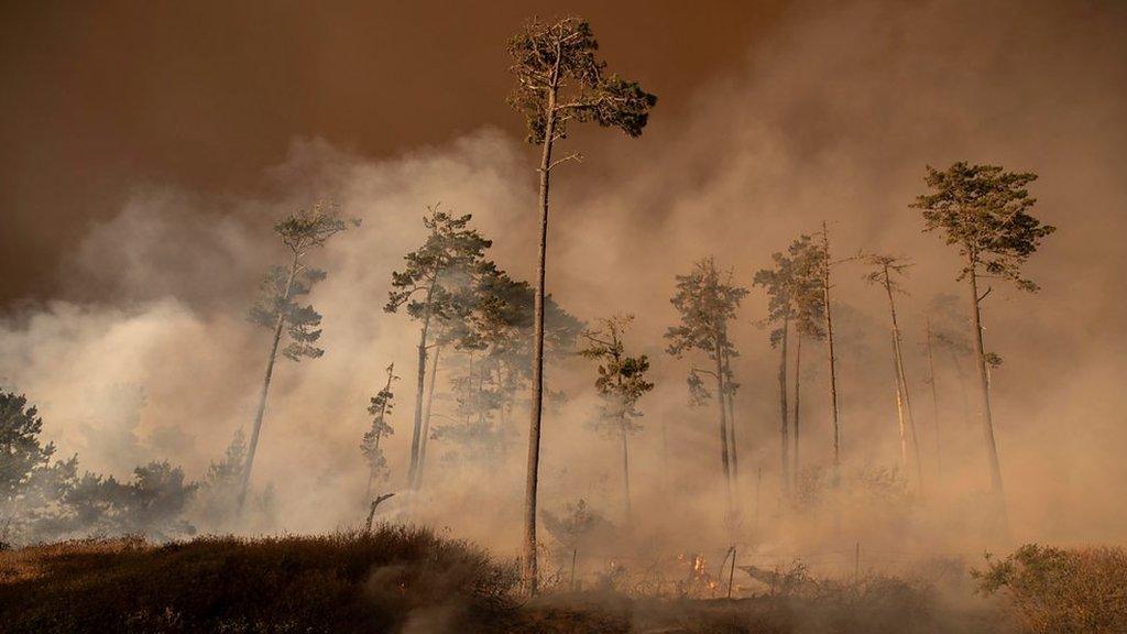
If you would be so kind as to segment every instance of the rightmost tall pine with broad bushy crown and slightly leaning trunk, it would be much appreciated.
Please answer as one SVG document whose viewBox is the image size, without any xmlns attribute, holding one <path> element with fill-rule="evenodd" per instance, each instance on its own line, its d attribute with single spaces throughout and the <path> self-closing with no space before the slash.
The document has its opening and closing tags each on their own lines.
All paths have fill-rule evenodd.
<svg viewBox="0 0 1127 634">
<path fill-rule="evenodd" d="M 979 292 L 983 279 L 999 279 L 1020 290 L 1035 292 L 1037 284 L 1022 278 L 1021 266 L 1040 246 L 1041 239 L 1056 230 L 1029 213 L 1036 204 L 1026 188 L 1037 179 L 1032 173 L 1005 171 L 1000 166 L 956 162 L 946 170 L 928 166 L 924 182 L 931 193 L 916 197 L 909 206 L 919 209 L 924 231 L 941 230 L 948 245 L 962 256 L 958 280 L 966 281 L 970 299 L 975 366 L 978 367 L 982 396 L 983 438 L 990 459 L 994 496 L 1004 512 L 1002 469 L 994 440 L 990 405 L 988 356 L 983 347 L 982 301 L 990 293 Z"/>
</svg>

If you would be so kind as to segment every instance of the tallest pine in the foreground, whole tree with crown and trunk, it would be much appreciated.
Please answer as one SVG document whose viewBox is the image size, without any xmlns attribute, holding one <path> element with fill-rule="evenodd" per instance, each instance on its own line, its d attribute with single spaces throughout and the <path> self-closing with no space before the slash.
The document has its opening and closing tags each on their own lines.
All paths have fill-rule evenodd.
<svg viewBox="0 0 1127 634">
<path fill-rule="evenodd" d="M 511 70 L 517 87 L 509 98 L 524 114 L 530 143 L 540 155 L 540 250 L 533 307 L 533 360 L 531 421 L 529 425 L 529 473 L 525 495 L 525 543 L 523 578 L 536 593 L 536 484 L 540 461 L 540 420 L 543 405 L 544 273 L 548 248 L 548 184 L 552 169 L 579 155 L 552 159 L 556 141 L 567 137 L 568 125 L 593 121 L 638 137 L 657 97 L 635 81 L 606 72 L 606 63 L 595 56 L 598 43 L 591 25 L 578 18 L 551 23 L 533 19 L 508 41 Z"/>
</svg>

